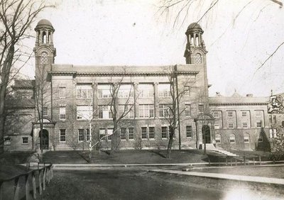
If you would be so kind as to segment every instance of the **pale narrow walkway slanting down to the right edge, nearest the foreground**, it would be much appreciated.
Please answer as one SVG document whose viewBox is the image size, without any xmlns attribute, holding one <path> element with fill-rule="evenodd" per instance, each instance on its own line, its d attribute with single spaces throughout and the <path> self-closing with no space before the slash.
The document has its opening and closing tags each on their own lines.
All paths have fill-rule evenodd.
<svg viewBox="0 0 284 200">
<path fill-rule="evenodd" d="M 251 176 L 241 176 L 233 174 L 219 174 L 219 173 L 205 173 L 205 172 L 183 172 L 176 170 L 150 170 L 152 172 L 163 172 L 171 174 L 182 174 L 187 176 L 196 176 L 196 177 L 208 177 L 214 179 L 230 179 L 238 180 L 243 182 L 259 182 L 266 184 L 281 184 L 284 185 L 284 179 L 268 178 L 268 177 L 251 177 Z"/>
</svg>

